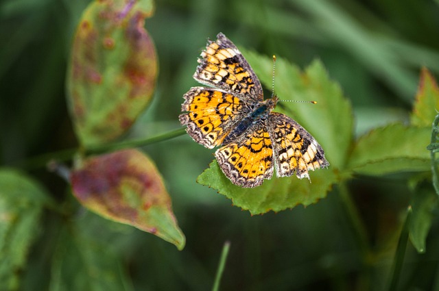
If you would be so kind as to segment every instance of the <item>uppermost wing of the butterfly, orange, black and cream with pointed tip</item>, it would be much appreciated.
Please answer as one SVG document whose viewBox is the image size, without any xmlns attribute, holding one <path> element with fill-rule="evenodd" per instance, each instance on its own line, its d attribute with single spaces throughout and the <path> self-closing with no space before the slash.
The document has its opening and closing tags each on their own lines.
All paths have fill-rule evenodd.
<svg viewBox="0 0 439 291">
<path fill-rule="evenodd" d="M 237 94 L 241 99 L 263 101 L 262 86 L 241 52 L 224 34 L 207 43 L 193 77 L 202 84 Z"/>
</svg>

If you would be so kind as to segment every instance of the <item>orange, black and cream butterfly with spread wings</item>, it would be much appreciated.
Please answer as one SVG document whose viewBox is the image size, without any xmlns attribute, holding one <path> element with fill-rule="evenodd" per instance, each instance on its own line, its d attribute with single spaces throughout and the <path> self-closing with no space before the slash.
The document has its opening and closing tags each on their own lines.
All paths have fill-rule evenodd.
<svg viewBox="0 0 439 291">
<path fill-rule="evenodd" d="M 241 52 L 224 34 L 209 40 L 183 98 L 179 120 L 195 142 L 219 147 L 219 168 L 233 184 L 260 186 L 271 179 L 329 166 L 320 144 L 292 118 L 272 112 L 278 97 L 263 99 L 261 83 Z"/>
</svg>

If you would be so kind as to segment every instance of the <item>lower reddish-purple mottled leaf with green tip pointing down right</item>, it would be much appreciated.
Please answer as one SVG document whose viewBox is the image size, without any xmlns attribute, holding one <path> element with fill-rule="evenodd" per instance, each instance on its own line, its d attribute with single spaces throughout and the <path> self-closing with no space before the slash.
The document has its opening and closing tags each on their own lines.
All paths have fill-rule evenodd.
<svg viewBox="0 0 439 291">
<path fill-rule="evenodd" d="M 155 234 L 178 249 L 185 236 L 150 158 L 130 149 L 88 158 L 71 173 L 75 197 L 89 210 Z"/>
</svg>

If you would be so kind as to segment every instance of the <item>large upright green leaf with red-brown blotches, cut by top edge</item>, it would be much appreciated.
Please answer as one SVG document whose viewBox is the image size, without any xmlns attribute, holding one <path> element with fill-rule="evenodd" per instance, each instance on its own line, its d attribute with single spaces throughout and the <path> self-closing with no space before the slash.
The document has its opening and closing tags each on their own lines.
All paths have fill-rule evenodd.
<svg viewBox="0 0 439 291">
<path fill-rule="evenodd" d="M 152 38 L 144 29 L 149 0 L 94 1 L 73 41 L 68 103 L 83 145 L 124 134 L 150 103 L 157 76 Z"/>
</svg>

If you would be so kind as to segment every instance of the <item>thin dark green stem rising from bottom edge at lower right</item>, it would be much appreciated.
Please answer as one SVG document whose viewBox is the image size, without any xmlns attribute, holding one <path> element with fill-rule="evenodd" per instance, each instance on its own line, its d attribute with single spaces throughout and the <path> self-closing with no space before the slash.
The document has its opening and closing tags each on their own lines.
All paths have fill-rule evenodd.
<svg viewBox="0 0 439 291">
<path fill-rule="evenodd" d="M 401 270 L 403 268 L 405 249 L 407 247 L 407 240 L 409 239 L 409 223 L 412 216 L 412 207 L 409 207 L 407 216 L 405 217 L 403 229 L 399 235 L 398 246 L 396 246 L 396 253 L 392 266 L 392 281 L 390 281 L 389 291 L 394 291 L 398 287 L 398 282 L 401 277 Z"/>
</svg>

